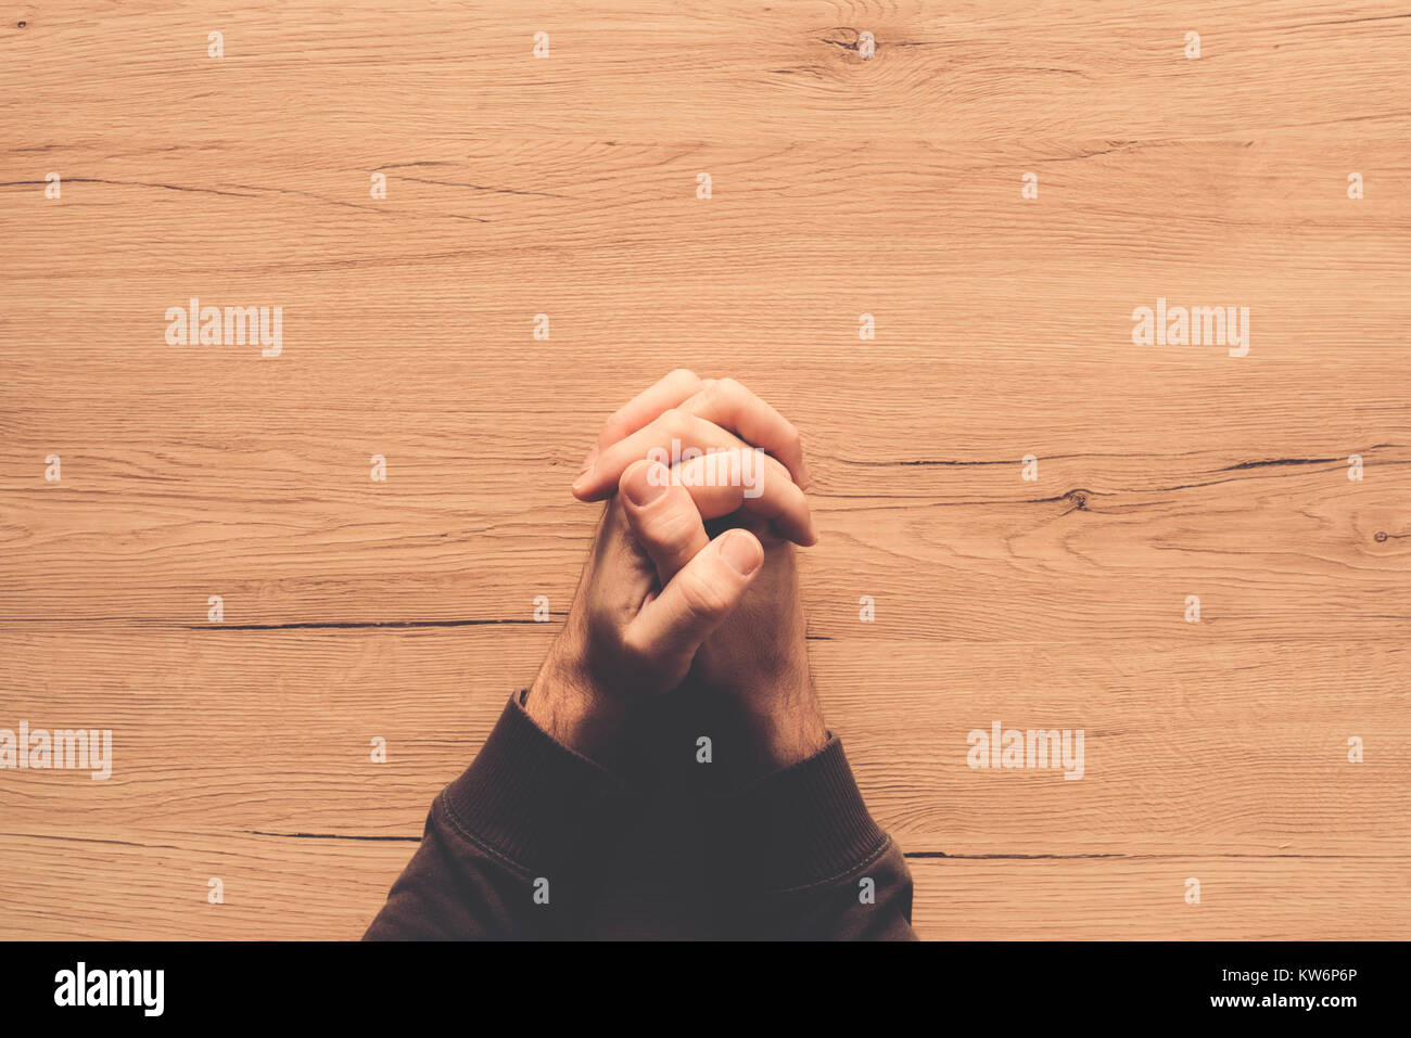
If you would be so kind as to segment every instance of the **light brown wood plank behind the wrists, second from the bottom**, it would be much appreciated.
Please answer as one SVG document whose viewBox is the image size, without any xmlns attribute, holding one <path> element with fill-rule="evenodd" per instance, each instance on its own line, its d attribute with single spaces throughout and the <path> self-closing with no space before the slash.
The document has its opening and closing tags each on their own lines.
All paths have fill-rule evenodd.
<svg viewBox="0 0 1411 1038">
<path fill-rule="evenodd" d="M 864 625 L 859 625 L 864 626 Z M 876 626 L 876 625 L 875 625 Z M 1181 626 L 1185 626 L 1184 623 Z M 7 824 L 416 836 L 538 668 L 547 625 L 4 635 L 8 718 L 111 728 L 113 777 L 6 773 Z M 1401 646 L 813 642 L 830 726 L 906 850 L 1411 853 Z M 1084 777 L 968 764 L 1082 729 Z M 17 723 L 17 721 L 11 721 Z M 370 743 L 388 740 L 374 764 Z M 1364 762 L 1348 760 L 1348 739 Z"/>
</svg>

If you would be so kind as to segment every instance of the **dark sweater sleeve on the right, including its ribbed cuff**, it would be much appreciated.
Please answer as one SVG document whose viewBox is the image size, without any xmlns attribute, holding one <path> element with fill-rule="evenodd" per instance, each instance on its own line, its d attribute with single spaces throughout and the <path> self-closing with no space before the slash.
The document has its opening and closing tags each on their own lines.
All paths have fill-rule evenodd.
<svg viewBox="0 0 1411 1038">
<path fill-rule="evenodd" d="M 837 736 L 807 760 L 711 801 L 707 825 L 734 936 L 916 939 L 912 873 L 868 814 Z"/>
</svg>

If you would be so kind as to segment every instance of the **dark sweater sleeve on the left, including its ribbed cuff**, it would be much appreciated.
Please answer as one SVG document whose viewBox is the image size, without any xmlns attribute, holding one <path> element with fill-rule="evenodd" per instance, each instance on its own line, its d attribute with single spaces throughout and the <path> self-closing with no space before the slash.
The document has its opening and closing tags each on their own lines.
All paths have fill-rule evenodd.
<svg viewBox="0 0 1411 1038">
<path fill-rule="evenodd" d="M 471 766 L 432 802 L 420 848 L 364 941 L 571 938 L 594 848 L 632 795 L 511 698 Z"/>
</svg>

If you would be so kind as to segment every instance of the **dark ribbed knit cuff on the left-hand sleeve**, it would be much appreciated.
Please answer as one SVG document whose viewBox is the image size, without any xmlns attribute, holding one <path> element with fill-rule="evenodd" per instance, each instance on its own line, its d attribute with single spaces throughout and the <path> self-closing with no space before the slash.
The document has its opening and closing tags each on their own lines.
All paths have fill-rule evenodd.
<svg viewBox="0 0 1411 1038">
<path fill-rule="evenodd" d="M 476 760 L 439 797 L 452 824 L 522 872 L 600 839 L 634 802 L 628 786 L 556 742 L 509 698 Z"/>
</svg>

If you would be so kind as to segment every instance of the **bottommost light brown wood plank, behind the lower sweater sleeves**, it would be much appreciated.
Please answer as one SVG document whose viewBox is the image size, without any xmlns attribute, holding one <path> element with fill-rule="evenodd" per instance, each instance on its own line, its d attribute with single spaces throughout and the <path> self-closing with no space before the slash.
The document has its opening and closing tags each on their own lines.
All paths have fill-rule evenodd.
<svg viewBox="0 0 1411 1038">
<path fill-rule="evenodd" d="M 7 836 L 3 939 L 356 939 L 408 842 L 205 832 Z M 913 859 L 926 939 L 1395 939 L 1407 857 Z M 330 877 L 339 877 L 336 884 Z M 223 904 L 207 901 L 210 879 Z M 1187 880 L 1201 903 L 1187 904 Z"/>
</svg>

